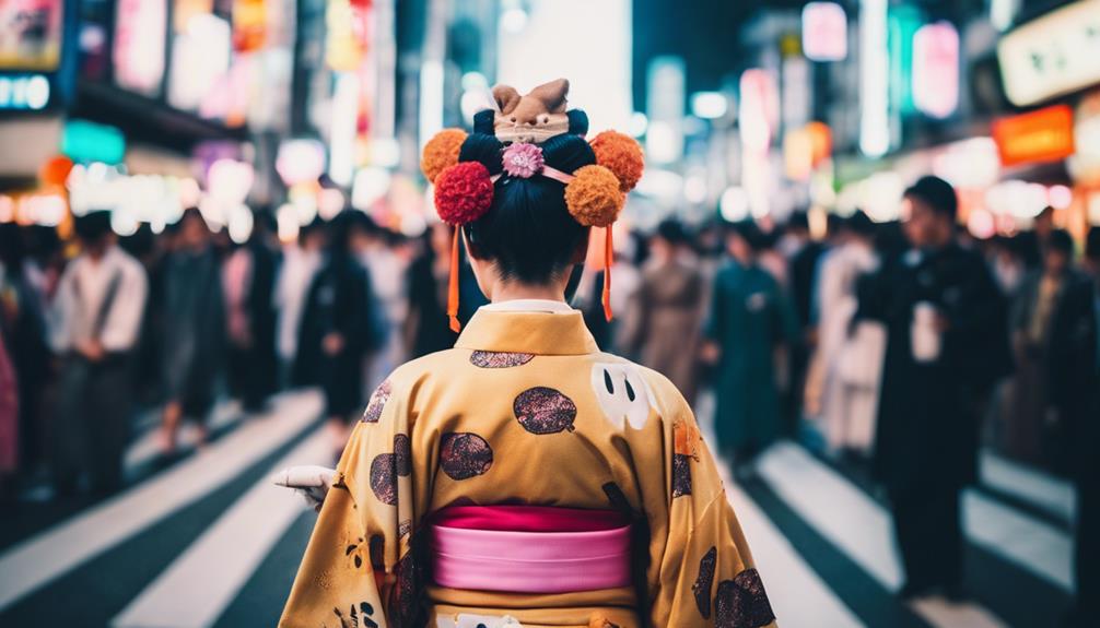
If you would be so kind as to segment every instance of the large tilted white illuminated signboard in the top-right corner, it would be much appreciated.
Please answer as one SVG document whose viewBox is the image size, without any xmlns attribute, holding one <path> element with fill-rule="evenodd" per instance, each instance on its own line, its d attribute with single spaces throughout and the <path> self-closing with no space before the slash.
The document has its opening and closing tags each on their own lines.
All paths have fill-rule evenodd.
<svg viewBox="0 0 1100 628">
<path fill-rule="evenodd" d="M 1027 106 L 1100 83 L 1100 0 L 1075 2 L 1001 38 L 1004 92 Z"/>
</svg>

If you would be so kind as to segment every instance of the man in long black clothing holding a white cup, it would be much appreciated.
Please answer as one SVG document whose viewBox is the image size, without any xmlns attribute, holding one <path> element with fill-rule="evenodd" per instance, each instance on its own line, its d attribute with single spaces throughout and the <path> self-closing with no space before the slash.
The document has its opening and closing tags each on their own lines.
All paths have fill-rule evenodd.
<svg viewBox="0 0 1100 628">
<path fill-rule="evenodd" d="M 887 326 L 875 445 L 905 571 L 904 598 L 963 594 L 963 486 L 977 474 L 981 395 L 1011 363 L 1004 309 L 980 254 L 956 242 L 958 199 L 924 177 L 904 193 L 910 249 L 861 288 Z"/>
</svg>

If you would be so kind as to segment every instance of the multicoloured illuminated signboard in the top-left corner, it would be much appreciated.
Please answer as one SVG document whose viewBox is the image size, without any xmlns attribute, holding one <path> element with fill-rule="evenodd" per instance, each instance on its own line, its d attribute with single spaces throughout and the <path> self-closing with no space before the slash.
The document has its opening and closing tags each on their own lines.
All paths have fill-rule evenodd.
<svg viewBox="0 0 1100 628">
<path fill-rule="evenodd" d="M 0 1 L 0 69 L 57 69 L 64 4 L 63 0 Z"/>
</svg>

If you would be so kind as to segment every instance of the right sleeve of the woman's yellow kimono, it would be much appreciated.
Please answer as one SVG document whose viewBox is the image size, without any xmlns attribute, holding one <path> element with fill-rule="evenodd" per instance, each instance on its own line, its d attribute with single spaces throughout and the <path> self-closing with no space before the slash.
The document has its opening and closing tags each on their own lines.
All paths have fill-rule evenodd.
<svg viewBox="0 0 1100 628">
<path fill-rule="evenodd" d="M 651 546 L 657 567 L 651 625 L 774 626 L 748 542 L 686 403 L 669 431 L 668 525 L 666 538 Z"/>
</svg>

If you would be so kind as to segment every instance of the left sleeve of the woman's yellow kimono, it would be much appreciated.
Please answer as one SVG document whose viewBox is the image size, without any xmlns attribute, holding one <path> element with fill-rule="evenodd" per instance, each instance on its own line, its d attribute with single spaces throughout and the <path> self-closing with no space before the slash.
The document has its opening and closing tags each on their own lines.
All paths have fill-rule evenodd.
<svg viewBox="0 0 1100 628">
<path fill-rule="evenodd" d="M 337 466 L 282 627 L 414 626 L 421 586 L 410 539 L 407 400 L 391 380 L 371 396 Z"/>
</svg>

